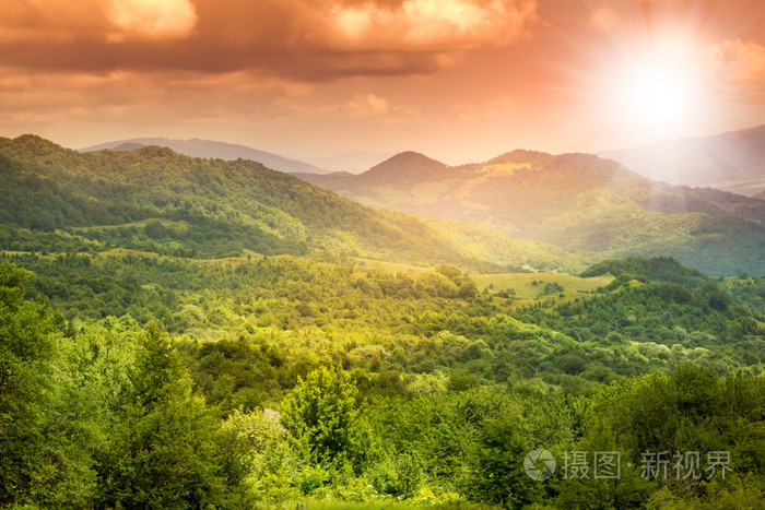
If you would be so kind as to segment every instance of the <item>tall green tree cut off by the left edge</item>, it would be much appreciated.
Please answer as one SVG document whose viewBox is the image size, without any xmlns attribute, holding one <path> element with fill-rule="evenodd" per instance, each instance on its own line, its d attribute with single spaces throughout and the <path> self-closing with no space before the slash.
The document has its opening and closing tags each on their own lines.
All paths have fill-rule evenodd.
<svg viewBox="0 0 765 510">
<path fill-rule="evenodd" d="M 25 280 L 0 264 L 0 506 L 87 506 L 94 418 L 63 367 L 63 320 L 24 300 Z"/>
</svg>

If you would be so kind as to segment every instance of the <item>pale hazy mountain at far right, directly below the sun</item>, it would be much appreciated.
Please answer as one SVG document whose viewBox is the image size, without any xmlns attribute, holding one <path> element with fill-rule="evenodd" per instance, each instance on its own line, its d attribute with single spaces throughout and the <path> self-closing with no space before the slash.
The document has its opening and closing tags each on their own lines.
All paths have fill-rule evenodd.
<svg viewBox="0 0 765 510">
<path fill-rule="evenodd" d="M 765 190 L 765 126 L 600 155 L 644 177 L 673 185 L 708 186 L 744 195 Z"/>
</svg>

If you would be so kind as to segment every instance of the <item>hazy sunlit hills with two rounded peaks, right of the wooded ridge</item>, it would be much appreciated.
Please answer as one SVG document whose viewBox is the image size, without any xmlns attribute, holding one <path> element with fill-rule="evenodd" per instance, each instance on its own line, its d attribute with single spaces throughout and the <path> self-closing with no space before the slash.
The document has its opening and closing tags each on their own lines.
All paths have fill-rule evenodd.
<svg viewBox="0 0 765 510">
<path fill-rule="evenodd" d="M 673 256 L 710 274 L 765 271 L 765 203 L 654 182 L 589 154 L 514 151 L 449 167 L 402 153 L 357 176 L 301 175 L 360 203 L 602 257 Z"/>
</svg>

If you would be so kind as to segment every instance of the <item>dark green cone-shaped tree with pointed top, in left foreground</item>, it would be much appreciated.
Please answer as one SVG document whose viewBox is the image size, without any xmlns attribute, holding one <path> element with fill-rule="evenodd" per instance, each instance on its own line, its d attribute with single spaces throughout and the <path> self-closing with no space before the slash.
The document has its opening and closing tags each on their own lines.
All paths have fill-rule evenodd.
<svg viewBox="0 0 765 510">
<path fill-rule="evenodd" d="M 172 341 L 150 323 L 132 389 L 99 463 L 102 503 L 128 508 L 207 508 L 222 497 L 216 428 Z"/>
</svg>

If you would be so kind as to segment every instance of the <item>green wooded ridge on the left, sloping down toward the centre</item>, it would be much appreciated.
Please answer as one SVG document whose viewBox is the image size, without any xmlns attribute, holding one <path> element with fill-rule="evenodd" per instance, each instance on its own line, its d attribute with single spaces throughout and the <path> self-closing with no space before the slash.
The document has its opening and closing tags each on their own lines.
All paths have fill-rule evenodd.
<svg viewBox="0 0 765 510">
<path fill-rule="evenodd" d="M 23 135 L 0 138 L 0 175 L 4 250 L 26 250 L 32 236 L 59 251 L 79 236 L 97 245 L 85 249 L 184 257 L 329 250 L 470 263 L 411 215 L 369 210 L 251 161 L 192 158 L 158 146 L 81 153 Z"/>
</svg>

